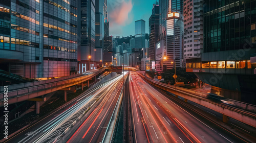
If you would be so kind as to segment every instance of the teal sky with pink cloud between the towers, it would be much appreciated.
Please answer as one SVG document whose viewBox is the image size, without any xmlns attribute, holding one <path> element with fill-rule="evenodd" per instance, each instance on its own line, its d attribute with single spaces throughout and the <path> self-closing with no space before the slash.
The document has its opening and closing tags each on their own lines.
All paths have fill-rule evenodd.
<svg viewBox="0 0 256 143">
<path fill-rule="evenodd" d="M 146 21 L 146 33 L 148 33 L 148 19 L 155 2 L 156 0 L 109 0 L 110 35 L 114 38 L 134 35 L 135 21 L 140 19 Z"/>
</svg>

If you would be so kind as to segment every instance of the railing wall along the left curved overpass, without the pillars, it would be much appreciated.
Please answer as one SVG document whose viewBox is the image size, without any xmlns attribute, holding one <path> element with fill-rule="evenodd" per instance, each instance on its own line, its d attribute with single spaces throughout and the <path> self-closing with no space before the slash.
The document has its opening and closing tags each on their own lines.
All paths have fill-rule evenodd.
<svg viewBox="0 0 256 143">
<path fill-rule="evenodd" d="M 82 75 L 82 74 L 77 74 L 77 75 L 72 75 L 69 77 L 62 77 L 58 79 L 51 79 L 51 80 L 45 80 L 45 81 L 35 81 L 35 82 L 29 82 L 29 83 L 22 83 L 22 84 L 14 84 L 14 85 L 9 85 L 8 86 L 8 101 L 11 98 L 15 97 L 20 97 L 24 96 L 27 94 L 32 94 L 40 91 L 44 91 L 47 89 L 51 88 L 56 88 L 56 90 L 66 88 L 73 86 L 71 83 L 76 83 L 76 82 L 82 82 L 84 80 L 88 80 L 102 71 L 104 71 L 104 68 L 99 69 L 97 72 L 90 74 L 90 75 Z M 70 84 L 70 86 L 69 86 Z M 61 85 L 67 85 L 67 86 L 61 86 Z M 4 86 L 1 86 L 1 93 L 0 93 L 0 101 L 3 101 L 4 99 Z M 54 90 L 54 91 L 56 91 Z M 0 106 L 1 103 L 0 103 Z"/>
</svg>

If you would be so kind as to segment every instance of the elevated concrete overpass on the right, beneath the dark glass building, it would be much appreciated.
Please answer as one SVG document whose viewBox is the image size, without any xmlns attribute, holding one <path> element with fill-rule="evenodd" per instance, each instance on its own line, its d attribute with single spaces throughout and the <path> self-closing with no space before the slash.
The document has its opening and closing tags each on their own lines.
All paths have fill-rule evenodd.
<svg viewBox="0 0 256 143">
<path fill-rule="evenodd" d="M 174 85 L 168 85 L 161 82 L 156 82 L 141 74 L 138 74 L 138 75 L 144 80 L 146 80 L 148 83 L 152 84 L 153 86 L 156 86 L 165 91 L 174 93 L 177 98 L 178 96 L 183 97 L 185 102 L 187 102 L 187 100 L 190 100 L 192 102 L 205 106 L 211 110 L 221 113 L 223 115 L 223 122 L 225 123 L 228 121 L 228 116 L 229 116 L 231 118 L 234 118 L 240 122 L 243 122 L 245 124 L 248 124 L 256 128 L 256 106 L 255 105 L 232 100 L 236 105 L 236 107 L 238 108 L 227 106 L 227 105 L 216 103 L 207 99 L 206 98 L 207 93 L 186 89 L 186 88 L 182 88 Z"/>
</svg>

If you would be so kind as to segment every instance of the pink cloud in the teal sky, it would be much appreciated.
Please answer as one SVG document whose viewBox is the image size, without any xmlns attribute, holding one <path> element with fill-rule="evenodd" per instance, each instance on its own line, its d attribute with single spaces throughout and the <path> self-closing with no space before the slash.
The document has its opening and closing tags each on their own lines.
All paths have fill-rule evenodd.
<svg viewBox="0 0 256 143">
<path fill-rule="evenodd" d="M 129 0 L 129 2 L 123 1 L 120 6 L 115 7 L 115 9 L 113 9 L 113 11 L 109 14 L 109 17 L 111 18 L 110 21 L 116 23 L 117 25 L 125 25 L 127 22 L 130 23 L 131 19 L 129 19 L 129 14 L 132 11 L 132 8 L 132 0 Z"/>
</svg>

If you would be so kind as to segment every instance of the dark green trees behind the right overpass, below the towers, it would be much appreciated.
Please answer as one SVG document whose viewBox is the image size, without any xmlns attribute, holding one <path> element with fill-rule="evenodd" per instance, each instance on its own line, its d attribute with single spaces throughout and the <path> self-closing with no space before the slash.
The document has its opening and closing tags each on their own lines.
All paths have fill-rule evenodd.
<svg viewBox="0 0 256 143">
<path fill-rule="evenodd" d="M 175 69 L 170 69 L 162 73 L 161 76 L 164 79 L 164 81 L 166 81 L 167 83 L 169 82 L 170 84 L 174 84 L 175 83 L 175 79 L 173 77 L 174 74 L 175 74 Z M 187 84 L 188 82 L 194 83 L 197 81 L 196 80 L 197 76 L 194 73 L 186 72 L 186 68 L 176 67 L 176 75 L 178 76 L 176 78 L 176 82 L 181 81 Z"/>
</svg>

